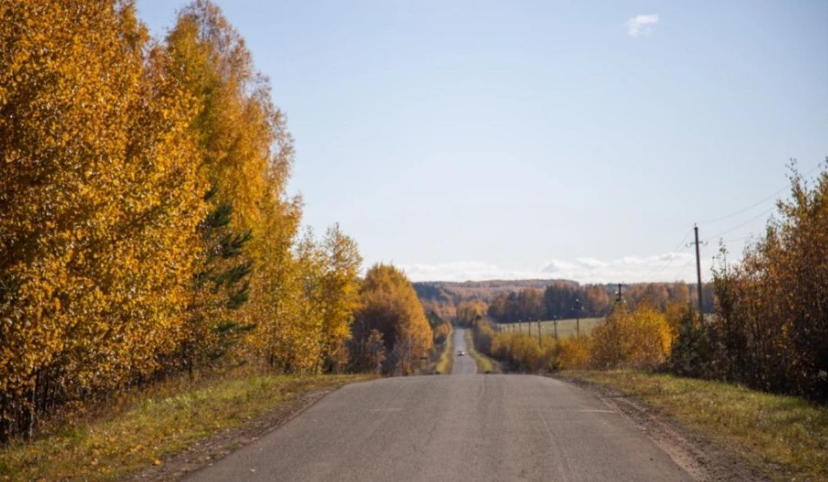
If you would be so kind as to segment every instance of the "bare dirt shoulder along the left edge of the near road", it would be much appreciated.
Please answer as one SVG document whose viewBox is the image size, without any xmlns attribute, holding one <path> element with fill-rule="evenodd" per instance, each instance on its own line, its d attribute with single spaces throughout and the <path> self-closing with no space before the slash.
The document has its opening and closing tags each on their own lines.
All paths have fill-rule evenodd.
<svg viewBox="0 0 828 482">
<path fill-rule="evenodd" d="M 188 451 L 166 459 L 163 465 L 142 470 L 126 480 L 135 482 L 180 480 L 195 470 L 213 465 L 216 460 L 258 440 L 267 432 L 289 422 L 293 417 L 304 412 L 307 407 L 334 390 L 335 388 L 329 388 L 304 393 L 300 397 L 284 402 L 279 407 L 250 422 L 220 431 L 205 440 L 198 441 Z"/>
</svg>

